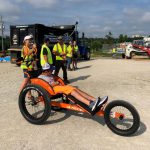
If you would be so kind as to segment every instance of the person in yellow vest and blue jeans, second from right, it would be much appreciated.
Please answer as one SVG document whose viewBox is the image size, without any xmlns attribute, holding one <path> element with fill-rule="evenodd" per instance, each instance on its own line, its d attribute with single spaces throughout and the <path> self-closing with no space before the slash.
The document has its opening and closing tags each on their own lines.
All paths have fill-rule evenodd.
<svg viewBox="0 0 150 150">
<path fill-rule="evenodd" d="M 67 47 L 67 69 L 72 71 L 70 65 L 72 63 L 72 53 L 73 53 L 73 43 L 72 41 L 69 42 L 69 46 Z"/>
</svg>

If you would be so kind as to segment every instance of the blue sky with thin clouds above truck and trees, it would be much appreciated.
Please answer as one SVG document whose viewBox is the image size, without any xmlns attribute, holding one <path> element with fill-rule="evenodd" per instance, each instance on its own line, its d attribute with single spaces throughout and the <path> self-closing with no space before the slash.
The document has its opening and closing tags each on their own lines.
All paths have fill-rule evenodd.
<svg viewBox="0 0 150 150">
<path fill-rule="evenodd" d="M 41 23 L 64 25 L 79 22 L 87 37 L 150 34 L 149 0 L 0 0 L 0 15 L 9 25 Z"/>
</svg>

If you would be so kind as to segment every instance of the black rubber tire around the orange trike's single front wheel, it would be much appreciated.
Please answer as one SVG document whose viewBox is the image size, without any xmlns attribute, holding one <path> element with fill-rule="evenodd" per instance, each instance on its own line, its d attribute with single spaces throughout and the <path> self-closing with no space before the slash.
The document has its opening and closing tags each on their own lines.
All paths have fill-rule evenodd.
<svg viewBox="0 0 150 150">
<path fill-rule="evenodd" d="M 133 119 L 127 118 L 127 114 L 125 114 L 124 117 L 120 116 L 118 119 L 113 118 L 111 116 L 113 114 L 112 109 L 115 107 L 116 108 L 117 107 L 125 108 L 126 110 L 128 110 L 131 113 Z M 119 109 L 119 111 L 120 111 L 120 109 Z M 140 116 L 139 116 L 137 110 L 135 109 L 135 107 L 133 105 L 131 105 L 128 102 L 123 101 L 123 100 L 115 100 L 115 101 L 110 102 L 105 108 L 104 119 L 105 119 L 105 122 L 106 122 L 108 128 L 110 130 L 112 130 L 114 133 L 121 135 L 121 136 L 132 135 L 133 133 L 135 133 L 138 130 L 138 128 L 140 126 Z M 115 123 L 113 123 L 113 121 Z M 132 122 L 132 126 L 129 127 L 128 129 L 120 129 L 117 126 L 117 125 L 120 125 L 120 126 L 124 125 L 124 127 L 129 126 L 130 122 Z"/>
</svg>

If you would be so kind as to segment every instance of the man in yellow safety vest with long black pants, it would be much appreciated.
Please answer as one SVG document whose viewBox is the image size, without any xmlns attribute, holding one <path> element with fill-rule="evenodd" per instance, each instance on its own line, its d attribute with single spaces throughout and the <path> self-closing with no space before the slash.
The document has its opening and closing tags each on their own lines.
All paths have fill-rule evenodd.
<svg viewBox="0 0 150 150">
<path fill-rule="evenodd" d="M 56 56 L 55 62 L 55 73 L 54 75 L 58 76 L 60 68 L 63 70 L 63 78 L 64 82 L 67 84 L 69 83 L 67 79 L 67 67 L 66 67 L 66 51 L 67 46 L 63 42 L 63 37 L 58 37 L 58 43 L 56 43 L 53 47 L 53 53 Z"/>
</svg>

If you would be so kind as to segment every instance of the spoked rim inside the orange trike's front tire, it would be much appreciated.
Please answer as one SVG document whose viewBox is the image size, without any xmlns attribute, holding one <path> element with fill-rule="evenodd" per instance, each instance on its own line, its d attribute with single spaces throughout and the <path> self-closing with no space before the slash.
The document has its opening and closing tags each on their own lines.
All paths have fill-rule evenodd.
<svg viewBox="0 0 150 150">
<path fill-rule="evenodd" d="M 119 115 L 116 116 L 116 113 Z M 109 118 L 112 126 L 121 131 L 130 130 L 134 125 L 134 116 L 132 112 L 123 106 L 113 107 Z"/>
</svg>

